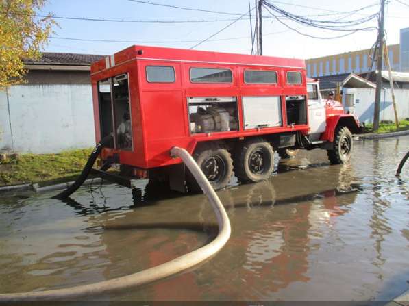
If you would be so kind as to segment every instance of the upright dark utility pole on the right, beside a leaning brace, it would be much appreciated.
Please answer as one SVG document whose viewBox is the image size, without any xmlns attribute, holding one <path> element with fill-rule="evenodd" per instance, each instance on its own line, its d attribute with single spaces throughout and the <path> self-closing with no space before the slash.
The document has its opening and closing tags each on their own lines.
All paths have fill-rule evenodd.
<svg viewBox="0 0 409 306">
<path fill-rule="evenodd" d="M 385 0 L 381 0 L 379 29 L 377 34 L 377 74 L 376 74 L 376 90 L 375 90 L 375 110 L 373 111 L 373 131 L 379 129 L 379 113 L 382 90 L 382 58 L 384 44 L 384 16 L 385 15 Z"/>
</svg>

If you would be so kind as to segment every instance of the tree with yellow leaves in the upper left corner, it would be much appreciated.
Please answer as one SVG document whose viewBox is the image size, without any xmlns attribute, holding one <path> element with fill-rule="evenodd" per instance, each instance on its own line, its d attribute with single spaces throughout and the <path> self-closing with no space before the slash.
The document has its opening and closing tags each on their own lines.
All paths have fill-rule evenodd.
<svg viewBox="0 0 409 306">
<path fill-rule="evenodd" d="M 27 70 L 23 59 L 40 58 L 55 21 L 36 17 L 45 0 L 0 0 L 0 90 L 19 84 Z"/>
</svg>

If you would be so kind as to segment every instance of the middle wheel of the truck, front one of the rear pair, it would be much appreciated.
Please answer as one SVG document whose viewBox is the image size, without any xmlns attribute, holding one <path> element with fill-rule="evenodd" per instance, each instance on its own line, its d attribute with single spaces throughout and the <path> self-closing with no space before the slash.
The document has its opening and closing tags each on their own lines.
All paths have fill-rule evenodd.
<svg viewBox="0 0 409 306">
<path fill-rule="evenodd" d="M 273 147 L 262 138 L 247 140 L 236 148 L 233 164 L 236 177 L 243 183 L 264 181 L 273 173 Z"/>
</svg>

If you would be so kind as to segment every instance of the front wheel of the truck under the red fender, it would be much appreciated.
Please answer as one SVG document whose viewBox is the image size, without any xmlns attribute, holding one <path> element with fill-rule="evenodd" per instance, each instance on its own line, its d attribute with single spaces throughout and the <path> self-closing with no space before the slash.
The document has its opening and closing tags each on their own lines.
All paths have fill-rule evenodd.
<svg viewBox="0 0 409 306">
<path fill-rule="evenodd" d="M 352 134 L 347 127 L 337 127 L 335 130 L 334 147 L 327 150 L 328 160 L 331 164 L 345 164 L 351 158 Z"/>
</svg>

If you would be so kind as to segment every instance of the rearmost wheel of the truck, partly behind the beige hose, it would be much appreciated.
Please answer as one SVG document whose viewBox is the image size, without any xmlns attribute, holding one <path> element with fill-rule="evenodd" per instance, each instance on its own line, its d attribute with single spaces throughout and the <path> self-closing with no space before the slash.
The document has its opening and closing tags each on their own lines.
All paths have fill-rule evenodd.
<svg viewBox="0 0 409 306">
<path fill-rule="evenodd" d="M 233 161 L 223 144 L 202 144 L 193 154 L 193 158 L 214 190 L 227 186 L 233 175 Z M 195 177 L 190 172 L 186 173 L 186 182 L 190 191 L 201 191 Z"/>
</svg>

